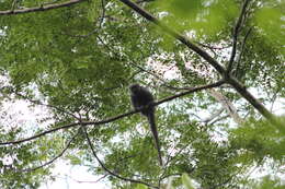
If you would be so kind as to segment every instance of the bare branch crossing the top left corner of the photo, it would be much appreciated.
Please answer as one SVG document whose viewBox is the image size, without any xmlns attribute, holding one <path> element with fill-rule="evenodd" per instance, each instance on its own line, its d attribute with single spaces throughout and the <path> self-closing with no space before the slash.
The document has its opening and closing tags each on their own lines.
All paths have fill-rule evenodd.
<svg viewBox="0 0 285 189">
<path fill-rule="evenodd" d="M 64 7 L 69 7 L 79 2 L 83 2 L 87 0 L 70 0 L 62 3 L 55 3 L 55 4 L 47 4 L 47 5 L 39 5 L 35 8 L 25 8 L 25 9 L 18 9 L 18 10 L 8 10 L 8 11 L 0 11 L 0 15 L 10 15 L 10 14 L 21 14 L 21 13 L 30 13 L 30 12 L 38 12 L 38 11 L 47 11 L 50 9 L 58 9 Z"/>
</svg>

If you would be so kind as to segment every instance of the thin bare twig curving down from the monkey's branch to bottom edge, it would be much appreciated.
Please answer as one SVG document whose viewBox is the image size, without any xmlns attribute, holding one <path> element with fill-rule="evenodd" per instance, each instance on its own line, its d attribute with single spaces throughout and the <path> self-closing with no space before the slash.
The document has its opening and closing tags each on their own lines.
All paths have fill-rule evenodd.
<svg viewBox="0 0 285 189">
<path fill-rule="evenodd" d="M 142 184 L 142 185 L 146 185 L 146 186 L 151 187 L 151 188 L 158 188 L 158 187 L 155 187 L 155 186 L 149 185 L 149 184 L 147 184 L 147 182 L 145 182 L 145 181 L 141 181 L 141 180 L 135 180 L 135 179 L 132 179 L 132 178 L 122 177 L 121 175 L 117 175 L 116 173 L 110 170 L 110 169 L 104 165 L 104 163 L 98 157 L 96 152 L 95 152 L 95 150 L 94 150 L 94 147 L 93 147 L 93 144 L 92 144 L 92 142 L 91 142 L 89 135 L 88 135 L 88 132 L 87 132 L 87 129 L 86 129 L 86 128 L 83 128 L 83 132 L 84 132 L 84 134 L 86 134 L 87 142 L 88 142 L 88 144 L 89 144 L 89 146 L 90 146 L 90 149 L 91 149 L 91 151 L 92 151 L 92 154 L 94 155 L 94 157 L 96 158 L 98 163 L 101 165 L 101 167 L 102 167 L 106 173 L 109 173 L 110 175 L 112 175 L 112 176 L 114 176 L 114 177 L 116 177 L 116 178 L 118 178 L 118 179 L 125 180 L 125 181 L 130 181 L 130 182 L 135 182 L 135 184 Z"/>
</svg>

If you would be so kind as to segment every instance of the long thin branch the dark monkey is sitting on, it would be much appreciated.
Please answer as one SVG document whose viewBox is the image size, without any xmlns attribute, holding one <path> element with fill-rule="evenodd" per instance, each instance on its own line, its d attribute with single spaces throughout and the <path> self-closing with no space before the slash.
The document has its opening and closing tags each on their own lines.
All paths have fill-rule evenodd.
<svg viewBox="0 0 285 189">
<path fill-rule="evenodd" d="M 169 101 L 172 101 L 174 98 L 178 98 L 178 97 L 182 97 L 182 96 L 185 96 L 187 94 L 191 94 L 191 93 L 194 93 L 194 92 L 197 92 L 197 91 L 202 91 L 202 90 L 206 90 L 206 88 L 210 88 L 210 87 L 216 87 L 216 86 L 219 86 L 221 85 L 224 82 L 223 81 L 219 81 L 217 83 L 213 83 L 213 84 L 208 84 L 208 85 L 203 85 L 203 86 L 198 86 L 198 87 L 193 87 L 184 93 L 180 93 L 178 95 L 173 95 L 173 96 L 170 96 L 170 97 L 167 97 L 164 99 L 161 99 L 159 102 L 156 102 L 153 103 L 151 106 L 158 106 L 162 103 L 166 103 L 166 102 L 169 102 Z M 69 129 L 69 128 L 73 128 L 73 127 L 77 127 L 77 126 L 90 126 L 90 125 L 93 125 L 93 126 L 99 126 L 99 125 L 104 125 L 104 123 L 109 123 L 109 122 L 112 122 L 112 121 L 115 121 L 117 119 L 121 119 L 123 117 L 127 117 L 127 116 L 130 116 L 133 114 L 136 114 L 136 113 L 139 113 L 144 109 L 145 107 L 142 108 L 139 108 L 137 110 L 133 110 L 133 111 L 129 111 L 129 113 L 126 113 L 126 114 L 123 114 L 123 115 L 118 115 L 118 116 L 115 116 L 115 117 L 112 117 L 112 118 L 109 118 L 109 119 L 105 119 L 105 120 L 101 120 L 101 121 L 82 121 L 82 122 L 73 122 L 73 123 L 70 123 L 70 125 L 65 125 L 65 126 L 61 126 L 61 127 L 58 127 L 58 128 L 54 128 L 54 129 L 50 129 L 50 130 L 47 130 L 47 131 L 44 131 L 44 132 L 41 132 L 38 134 L 35 134 L 33 137 L 30 137 L 30 138 L 26 138 L 26 139 L 22 139 L 22 140 L 18 140 L 18 141 L 7 141 L 7 142 L 0 142 L 0 145 L 8 145 L 8 144 L 19 144 L 19 143 L 23 143 L 23 142 L 27 142 L 27 141 L 31 141 L 31 140 L 35 140 L 39 137 L 43 137 L 45 134 L 48 134 L 48 133 L 52 133 L 52 132 L 56 132 L 58 130 L 62 130 L 62 129 Z"/>
</svg>

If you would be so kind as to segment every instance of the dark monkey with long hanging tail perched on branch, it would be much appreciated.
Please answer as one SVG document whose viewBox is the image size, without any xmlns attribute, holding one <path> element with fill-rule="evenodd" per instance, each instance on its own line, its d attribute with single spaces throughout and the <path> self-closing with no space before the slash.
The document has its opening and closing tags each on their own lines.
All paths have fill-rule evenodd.
<svg viewBox="0 0 285 189">
<path fill-rule="evenodd" d="M 160 143 L 158 139 L 158 130 L 156 126 L 156 119 L 155 119 L 155 106 L 151 106 L 151 104 L 155 102 L 155 98 L 152 94 L 148 91 L 148 88 L 140 86 L 139 84 L 132 84 L 129 86 L 130 91 L 130 101 L 135 109 L 141 109 L 141 115 L 146 116 L 148 118 L 148 122 L 150 126 L 150 130 L 152 132 L 152 137 L 155 139 L 155 145 L 158 151 L 158 157 L 159 163 L 162 166 L 162 158 L 161 158 L 161 152 L 160 152 Z"/>
</svg>

